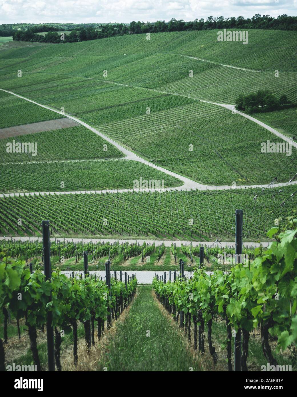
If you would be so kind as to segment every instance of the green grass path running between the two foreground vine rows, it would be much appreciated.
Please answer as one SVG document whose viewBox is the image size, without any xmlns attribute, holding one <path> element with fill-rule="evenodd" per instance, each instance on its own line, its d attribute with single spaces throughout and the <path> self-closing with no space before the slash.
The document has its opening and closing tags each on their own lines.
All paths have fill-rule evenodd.
<svg viewBox="0 0 297 397">
<path fill-rule="evenodd" d="M 181 332 L 162 314 L 149 285 L 138 286 L 129 315 L 119 322 L 98 362 L 99 371 L 104 367 L 107 371 L 201 370 Z"/>
</svg>

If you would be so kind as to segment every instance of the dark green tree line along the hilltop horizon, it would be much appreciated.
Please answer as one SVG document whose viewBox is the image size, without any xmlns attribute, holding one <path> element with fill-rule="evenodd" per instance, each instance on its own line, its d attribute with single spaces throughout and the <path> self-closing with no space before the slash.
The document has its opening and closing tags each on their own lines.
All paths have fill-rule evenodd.
<svg viewBox="0 0 297 397">
<path fill-rule="evenodd" d="M 209 16 L 205 20 L 195 19 L 194 21 L 185 22 L 183 19 L 177 20 L 172 18 L 170 21 L 141 22 L 132 21 L 130 24 L 125 23 L 108 23 L 108 24 L 81 24 L 72 25 L 71 31 L 65 34 L 63 40 L 56 32 L 59 29 L 65 29 L 65 25 L 54 24 L 29 26 L 27 30 L 12 30 L 10 35 L 13 40 L 32 41 L 32 42 L 77 42 L 85 40 L 104 39 L 106 37 L 123 36 L 140 33 L 162 33 L 174 31 L 195 31 L 209 29 L 280 29 L 280 30 L 297 30 L 297 16 L 291 17 L 286 14 L 279 15 L 277 18 L 269 15 L 255 14 L 252 18 L 239 17 L 213 17 Z M 75 27 L 73 29 L 73 27 Z M 48 32 L 46 35 L 40 35 L 40 32 Z M 5 33 L 5 32 L 4 32 Z M 0 36 L 1 36 L 0 30 Z M 3 34 L 5 36 L 6 34 Z"/>
</svg>

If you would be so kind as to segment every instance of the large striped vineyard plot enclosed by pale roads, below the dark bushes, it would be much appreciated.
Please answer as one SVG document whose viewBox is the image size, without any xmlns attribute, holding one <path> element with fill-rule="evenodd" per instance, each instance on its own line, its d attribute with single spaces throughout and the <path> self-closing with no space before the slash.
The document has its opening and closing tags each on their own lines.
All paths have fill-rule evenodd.
<svg viewBox="0 0 297 397">
<path fill-rule="evenodd" d="M 151 162 L 206 184 L 255 185 L 276 175 L 289 181 L 297 169 L 297 150 L 261 153 L 273 134 L 213 104 L 195 102 L 98 128 Z"/>
</svg>

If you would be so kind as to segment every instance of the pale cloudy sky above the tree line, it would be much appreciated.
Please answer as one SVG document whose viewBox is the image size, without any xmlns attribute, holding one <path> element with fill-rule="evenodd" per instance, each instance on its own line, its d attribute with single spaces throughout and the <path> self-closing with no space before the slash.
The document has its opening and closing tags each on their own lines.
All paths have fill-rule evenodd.
<svg viewBox="0 0 297 397">
<path fill-rule="evenodd" d="M 297 15 L 297 0 L 0 0 L 0 23 L 193 21 L 255 13 Z"/>
</svg>

